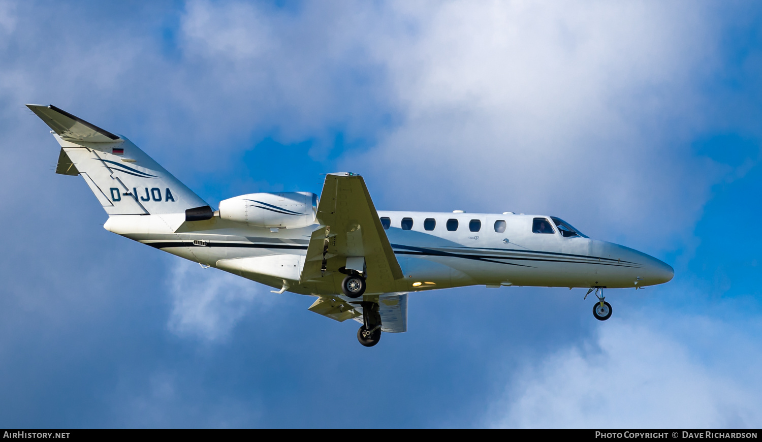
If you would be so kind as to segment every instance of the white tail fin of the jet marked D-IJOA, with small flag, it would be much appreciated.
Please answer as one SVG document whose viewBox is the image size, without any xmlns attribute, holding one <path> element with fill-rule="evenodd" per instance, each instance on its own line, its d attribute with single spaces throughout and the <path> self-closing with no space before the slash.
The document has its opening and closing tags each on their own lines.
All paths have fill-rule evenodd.
<svg viewBox="0 0 762 442">
<path fill-rule="evenodd" d="M 82 175 L 109 215 L 182 213 L 207 205 L 129 139 L 52 104 L 27 107 L 61 145 L 56 173 Z"/>
</svg>

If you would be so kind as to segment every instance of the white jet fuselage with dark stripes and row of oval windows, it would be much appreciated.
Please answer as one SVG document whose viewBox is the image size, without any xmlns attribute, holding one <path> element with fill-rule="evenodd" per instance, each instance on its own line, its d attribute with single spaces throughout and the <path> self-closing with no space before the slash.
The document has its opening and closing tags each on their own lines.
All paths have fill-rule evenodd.
<svg viewBox="0 0 762 442">
<path fill-rule="evenodd" d="M 645 287 L 668 282 L 674 275 L 668 264 L 632 248 L 581 235 L 565 237 L 550 216 L 378 213 L 381 219 L 389 219 L 386 235 L 405 274 L 395 281 L 400 292 L 472 285 Z M 533 232 L 536 219 L 546 220 L 546 232 Z M 336 295 L 325 288 L 330 285 L 298 283 L 310 234 L 317 225 L 272 232 L 217 217 L 189 224 L 178 214 L 126 215 L 111 216 L 104 227 L 271 287 L 280 288 L 287 280 L 294 293 Z M 227 264 L 236 258 L 256 257 L 268 257 L 261 272 L 256 265 L 242 269 Z M 329 271 L 325 277 L 343 279 L 344 274 Z"/>
</svg>

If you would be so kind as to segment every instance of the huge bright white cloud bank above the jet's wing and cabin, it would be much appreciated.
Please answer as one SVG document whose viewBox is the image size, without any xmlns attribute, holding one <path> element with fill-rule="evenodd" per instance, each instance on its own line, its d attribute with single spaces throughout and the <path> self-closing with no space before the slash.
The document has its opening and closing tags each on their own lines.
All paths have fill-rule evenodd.
<svg viewBox="0 0 762 442">
<path fill-rule="evenodd" d="M 198 114 L 230 107 L 194 135 L 273 124 L 286 143 L 337 127 L 378 140 L 340 168 L 395 183 L 372 190 L 393 208 L 551 212 L 655 248 L 687 239 L 727 173 L 690 152 L 721 69 L 707 8 L 194 1 L 180 40 L 200 69 L 176 94 L 194 90 Z"/>
</svg>

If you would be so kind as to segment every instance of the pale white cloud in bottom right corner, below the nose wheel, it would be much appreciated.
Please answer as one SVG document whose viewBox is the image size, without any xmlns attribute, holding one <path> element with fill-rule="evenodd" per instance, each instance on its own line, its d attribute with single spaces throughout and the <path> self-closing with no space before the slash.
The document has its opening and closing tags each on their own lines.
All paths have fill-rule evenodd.
<svg viewBox="0 0 762 442">
<path fill-rule="evenodd" d="M 758 428 L 758 325 L 704 317 L 610 319 L 594 342 L 517 373 L 488 424 L 552 428 Z M 757 330 L 758 332 L 758 330 Z"/>
</svg>

